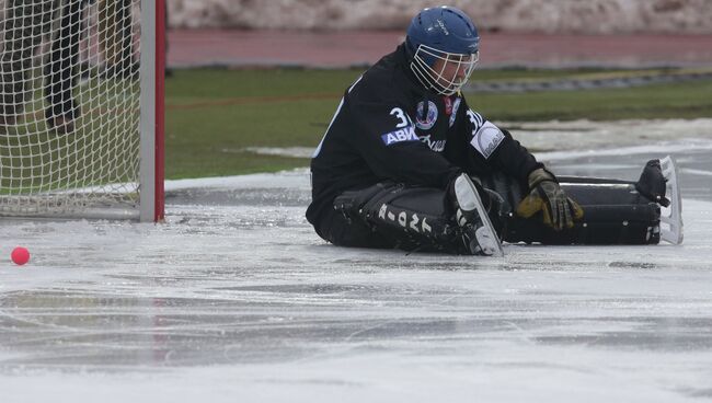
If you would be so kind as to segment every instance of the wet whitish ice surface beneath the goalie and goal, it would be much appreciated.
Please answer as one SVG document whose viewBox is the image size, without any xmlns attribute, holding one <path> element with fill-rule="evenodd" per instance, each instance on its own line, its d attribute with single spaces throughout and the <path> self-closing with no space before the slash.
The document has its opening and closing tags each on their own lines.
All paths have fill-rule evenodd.
<svg viewBox="0 0 712 403">
<path fill-rule="evenodd" d="M 696 141 L 539 156 L 636 179 L 673 150 L 680 246 L 334 247 L 303 218 L 306 170 L 169 182 L 165 224 L 1 221 L 0 401 L 712 400 L 712 148 Z"/>
</svg>

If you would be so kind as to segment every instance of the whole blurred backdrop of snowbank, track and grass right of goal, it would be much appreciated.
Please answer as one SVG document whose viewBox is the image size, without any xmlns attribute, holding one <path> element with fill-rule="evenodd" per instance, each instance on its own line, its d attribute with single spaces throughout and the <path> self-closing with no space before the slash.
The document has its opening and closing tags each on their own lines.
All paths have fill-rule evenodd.
<svg viewBox="0 0 712 403">
<path fill-rule="evenodd" d="M 346 87 L 404 39 L 420 10 L 443 4 L 168 0 L 168 176 L 307 166 Z M 482 37 L 469 104 L 533 151 L 552 146 L 517 128 L 712 117 L 710 1 L 447 4 Z"/>
</svg>

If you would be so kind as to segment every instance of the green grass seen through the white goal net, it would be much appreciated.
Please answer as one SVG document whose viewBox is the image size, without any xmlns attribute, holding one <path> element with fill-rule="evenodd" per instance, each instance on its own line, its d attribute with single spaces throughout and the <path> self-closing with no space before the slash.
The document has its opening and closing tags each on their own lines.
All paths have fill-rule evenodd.
<svg viewBox="0 0 712 403">
<path fill-rule="evenodd" d="M 74 131 L 64 135 L 47 127 L 42 80 L 31 84 L 33 96 L 16 125 L 0 127 L 0 195 L 135 182 L 138 81 L 92 80 L 77 88 L 81 116 Z M 107 160 L 122 165 L 110 166 Z"/>
</svg>

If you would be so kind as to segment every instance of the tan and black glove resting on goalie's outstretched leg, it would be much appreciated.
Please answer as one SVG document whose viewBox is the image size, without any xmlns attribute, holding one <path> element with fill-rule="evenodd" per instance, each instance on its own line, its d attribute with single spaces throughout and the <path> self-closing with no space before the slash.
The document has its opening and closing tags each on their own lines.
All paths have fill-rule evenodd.
<svg viewBox="0 0 712 403">
<path fill-rule="evenodd" d="M 561 231 L 573 228 L 574 220 L 584 218 L 584 210 L 559 186 L 559 182 L 547 170 L 540 168 L 529 174 L 529 194 L 517 206 L 517 215 L 530 218 L 542 212 L 544 224 Z"/>
</svg>

